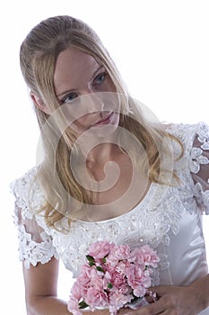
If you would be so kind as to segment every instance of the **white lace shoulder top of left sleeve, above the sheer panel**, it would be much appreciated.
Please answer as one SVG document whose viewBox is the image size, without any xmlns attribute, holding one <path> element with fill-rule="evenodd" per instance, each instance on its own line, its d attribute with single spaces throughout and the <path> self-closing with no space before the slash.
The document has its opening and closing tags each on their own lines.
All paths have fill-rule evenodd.
<svg viewBox="0 0 209 315">
<path fill-rule="evenodd" d="M 40 206 L 45 203 L 44 194 L 39 187 L 37 169 L 37 166 L 30 168 L 10 184 L 16 205 L 22 208 L 22 211 L 27 209 L 29 216 L 38 211 Z"/>
</svg>

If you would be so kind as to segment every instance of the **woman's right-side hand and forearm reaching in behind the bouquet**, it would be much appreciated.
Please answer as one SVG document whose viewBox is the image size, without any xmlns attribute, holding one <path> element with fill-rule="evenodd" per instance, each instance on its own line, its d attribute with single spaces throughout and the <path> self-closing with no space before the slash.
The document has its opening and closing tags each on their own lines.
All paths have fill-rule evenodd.
<svg viewBox="0 0 209 315">
<path fill-rule="evenodd" d="M 198 315 L 209 307 L 209 275 L 197 279 L 187 286 L 159 285 L 149 288 L 157 296 L 152 299 L 148 294 L 146 300 L 150 303 L 138 309 L 122 308 L 120 315 Z M 156 300 L 156 302 L 154 302 Z"/>
</svg>

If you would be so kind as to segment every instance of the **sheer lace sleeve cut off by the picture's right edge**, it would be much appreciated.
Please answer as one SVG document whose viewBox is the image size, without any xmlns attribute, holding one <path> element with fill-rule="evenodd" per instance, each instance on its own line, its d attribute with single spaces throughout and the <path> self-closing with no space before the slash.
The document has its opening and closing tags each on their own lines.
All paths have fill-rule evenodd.
<svg viewBox="0 0 209 315">
<path fill-rule="evenodd" d="M 209 126 L 200 123 L 189 160 L 195 183 L 196 200 L 201 210 L 209 214 Z"/>
</svg>

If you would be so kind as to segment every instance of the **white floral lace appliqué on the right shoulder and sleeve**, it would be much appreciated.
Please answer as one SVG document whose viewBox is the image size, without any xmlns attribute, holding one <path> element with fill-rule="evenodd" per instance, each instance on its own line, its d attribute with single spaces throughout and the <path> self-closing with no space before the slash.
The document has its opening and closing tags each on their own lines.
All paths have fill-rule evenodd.
<svg viewBox="0 0 209 315">
<path fill-rule="evenodd" d="M 209 214 L 209 189 L 204 189 L 204 186 L 209 187 L 209 178 L 206 182 L 202 181 L 200 177 L 201 165 L 208 165 L 209 159 L 204 156 L 204 151 L 209 150 L 209 126 L 204 122 L 200 122 L 197 125 L 185 125 L 180 124 L 177 130 L 173 131 L 173 134 L 177 136 L 185 145 L 185 157 L 188 167 L 179 161 L 179 177 L 182 179 L 184 185 L 180 189 L 182 201 L 184 202 L 188 211 L 196 209 L 196 203 L 200 210 Z M 194 140 L 197 137 L 199 141 L 199 147 L 194 146 Z M 195 184 L 193 181 L 193 175 L 196 175 Z M 209 167 L 208 167 L 209 173 Z M 195 178 L 195 177 L 194 177 Z M 204 186 L 203 186 L 204 184 Z"/>
</svg>

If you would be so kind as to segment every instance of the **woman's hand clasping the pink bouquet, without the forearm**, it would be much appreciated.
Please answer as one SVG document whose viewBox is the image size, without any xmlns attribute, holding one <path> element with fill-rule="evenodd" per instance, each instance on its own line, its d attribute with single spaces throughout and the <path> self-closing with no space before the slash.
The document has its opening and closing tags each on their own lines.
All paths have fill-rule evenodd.
<svg viewBox="0 0 209 315">
<path fill-rule="evenodd" d="M 128 308 L 119 311 L 121 315 L 197 315 L 202 308 L 199 295 L 193 286 L 155 286 L 158 301 L 137 310 Z"/>
</svg>

